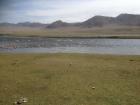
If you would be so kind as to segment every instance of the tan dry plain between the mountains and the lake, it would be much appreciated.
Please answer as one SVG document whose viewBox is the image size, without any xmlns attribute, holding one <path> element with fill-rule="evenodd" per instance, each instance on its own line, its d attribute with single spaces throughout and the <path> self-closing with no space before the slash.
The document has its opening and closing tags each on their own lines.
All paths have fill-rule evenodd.
<svg viewBox="0 0 140 105">
<path fill-rule="evenodd" d="M 11 36 L 46 36 L 46 37 L 123 37 L 140 38 L 140 27 L 94 27 L 94 28 L 31 28 L 31 27 L 0 27 L 1 35 Z"/>
</svg>

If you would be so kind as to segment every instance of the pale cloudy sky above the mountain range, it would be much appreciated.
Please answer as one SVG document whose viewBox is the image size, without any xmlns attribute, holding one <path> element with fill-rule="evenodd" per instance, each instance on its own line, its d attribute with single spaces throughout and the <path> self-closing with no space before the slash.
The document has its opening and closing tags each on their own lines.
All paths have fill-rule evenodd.
<svg viewBox="0 0 140 105">
<path fill-rule="evenodd" d="M 95 15 L 140 14 L 140 0 L 0 0 L 0 22 L 82 22 Z"/>
</svg>

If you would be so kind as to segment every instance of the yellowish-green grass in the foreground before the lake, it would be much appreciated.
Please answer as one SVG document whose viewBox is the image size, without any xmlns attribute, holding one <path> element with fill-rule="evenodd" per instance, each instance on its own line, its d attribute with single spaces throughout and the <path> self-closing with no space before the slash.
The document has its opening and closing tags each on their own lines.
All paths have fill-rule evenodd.
<svg viewBox="0 0 140 105">
<path fill-rule="evenodd" d="M 0 105 L 140 105 L 139 87 L 140 56 L 0 54 Z"/>
</svg>

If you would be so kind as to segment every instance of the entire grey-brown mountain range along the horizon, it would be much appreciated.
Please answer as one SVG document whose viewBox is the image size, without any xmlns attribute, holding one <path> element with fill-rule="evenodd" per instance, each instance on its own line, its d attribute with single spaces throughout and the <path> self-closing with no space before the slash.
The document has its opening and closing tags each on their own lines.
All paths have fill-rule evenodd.
<svg viewBox="0 0 140 105">
<path fill-rule="evenodd" d="M 61 20 L 53 22 L 51 24 L 42 24 L 42 23 L 0 23 L 0 26 L 22 26 L 22 27 L 40 27 L 40 28 L 61 28 L 61 27 L 103 27 L 103 26 L 140 26 L 140 15 L 136 14 L 120 14 L 117 17 L 108 17 L 108 16 L 94 16 L 84 22 L 79 23 L 67 23 Z"/>
</svg>

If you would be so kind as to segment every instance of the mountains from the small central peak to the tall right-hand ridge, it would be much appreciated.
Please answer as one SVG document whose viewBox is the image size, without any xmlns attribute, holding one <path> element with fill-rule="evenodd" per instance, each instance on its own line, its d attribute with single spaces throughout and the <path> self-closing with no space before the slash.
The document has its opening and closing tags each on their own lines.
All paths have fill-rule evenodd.
<svg viewBox="0 0 140 105">
<path fill-rule="evenodd" d="M 62 21 L 56 21 L 49 24 L 47 28 L 60 28 L 60 27 L 102 27 L 109 25 L 124 25 L 124 26 L 140 26 L 140 15 L 134 14 L 120 14 L 117 17 L 107 17 L 107 16 L 94 16 L 81 23 L 66 23 Z"/>
</svg>

